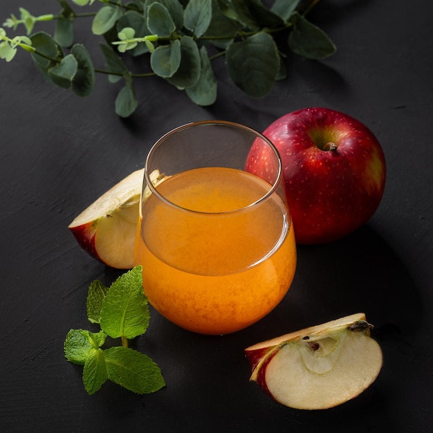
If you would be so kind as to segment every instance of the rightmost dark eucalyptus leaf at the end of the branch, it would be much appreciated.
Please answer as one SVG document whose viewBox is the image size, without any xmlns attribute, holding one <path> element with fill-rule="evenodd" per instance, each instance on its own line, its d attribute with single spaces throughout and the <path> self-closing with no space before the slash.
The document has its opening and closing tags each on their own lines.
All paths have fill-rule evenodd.
<svg viewBox="0 0 433 433">
<path fill-rule="evenodd" d="M 288 46 L 293 53 L 306 59 L 324 59 L 335 53 L 336 48 L 324 31 L 298 12 L 292 16 L 293 30 L 288 37 Z"/>
</svg>

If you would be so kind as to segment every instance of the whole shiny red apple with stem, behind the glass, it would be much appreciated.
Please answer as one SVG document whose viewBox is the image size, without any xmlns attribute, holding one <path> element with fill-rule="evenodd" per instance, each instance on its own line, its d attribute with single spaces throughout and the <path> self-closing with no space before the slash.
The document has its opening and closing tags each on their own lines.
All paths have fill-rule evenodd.
<svg viewBox="0 0 433 433">
<path fill-rule="evenodd" d="M 335 241 L 374 214 L 385 189 L 385 156 L 365 125 L 347 114 L 306 108 L 264 131 L 282 157 L 297 243 Z M 268 148 L 253 143 L 246 171 L 268 180 Z"/>
</svg>

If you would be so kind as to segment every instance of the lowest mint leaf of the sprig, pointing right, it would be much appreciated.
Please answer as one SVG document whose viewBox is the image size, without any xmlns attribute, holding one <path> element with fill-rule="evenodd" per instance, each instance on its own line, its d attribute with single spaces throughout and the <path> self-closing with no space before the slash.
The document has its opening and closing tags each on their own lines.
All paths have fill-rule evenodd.
<svg viewBox="0 0 433 433">
<path fill-rule="evenodd" d="M 104 350 L 109 380 L 136 394 L 149 394 L 165 386 L 161 371 L 148 356 L 128 349 L 111 347 Z"/>
</svg>

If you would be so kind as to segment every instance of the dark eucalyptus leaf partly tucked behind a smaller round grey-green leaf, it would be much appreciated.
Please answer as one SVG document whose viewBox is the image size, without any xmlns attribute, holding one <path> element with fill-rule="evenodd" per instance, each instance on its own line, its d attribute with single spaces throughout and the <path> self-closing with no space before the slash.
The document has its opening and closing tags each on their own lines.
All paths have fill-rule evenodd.
<svg viewBox="0 0 433 433">
<path fill-rule="evenodd" d="M 181 64 L 172 77 L 167 78 L 170 84 L 178 89 L 186 89 L 197 84 L 201 73 L 199 47 L 192 37 L 181 39 Z"/>
</svg>

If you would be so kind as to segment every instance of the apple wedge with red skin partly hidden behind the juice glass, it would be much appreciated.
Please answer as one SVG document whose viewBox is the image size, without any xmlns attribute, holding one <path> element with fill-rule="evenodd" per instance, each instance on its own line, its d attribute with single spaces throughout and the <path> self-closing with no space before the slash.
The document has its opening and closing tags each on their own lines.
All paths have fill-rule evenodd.
<svg viewBox="0 0 433 433">
<path fill-rule="evenodd" d="M 129 174 L 68 225 L 86 252 L 112 268 L 133 266 L 143 175 L 144 169 Z M 157 185 L 165 176 L 155 170 L 150 178 Z M 147 186 L 143 194 L 150 194 Z"/>
</svg>

